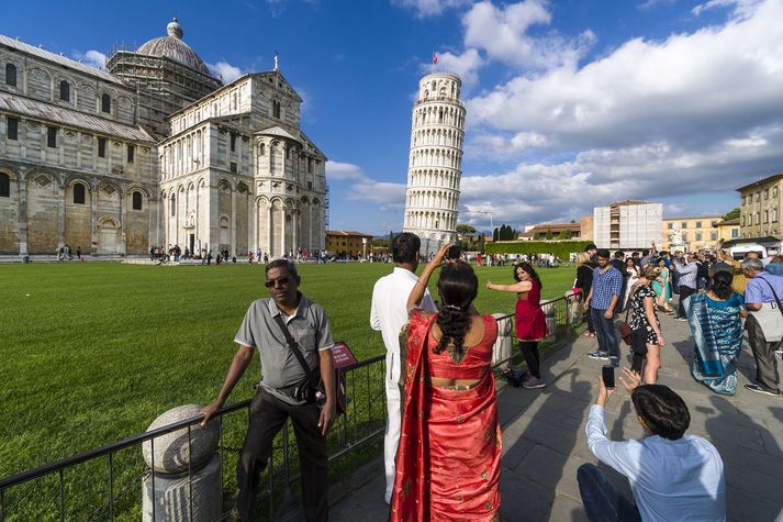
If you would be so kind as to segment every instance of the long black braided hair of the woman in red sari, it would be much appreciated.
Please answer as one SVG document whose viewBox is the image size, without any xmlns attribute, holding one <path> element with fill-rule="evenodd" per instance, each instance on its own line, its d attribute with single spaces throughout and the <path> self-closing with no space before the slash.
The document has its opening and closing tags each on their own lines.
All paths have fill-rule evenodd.
<svg viewBox="0 0 783 522">
<path fill-rule="evenodd" d="M 435 322 L 440 326 L 440 341 L 433 348 L 439 354 L 454 344 L 452 357 L 459 360 L 465 355 L 465 336 L 470 327 L 470 306 L 479 293 L 479 278 L 467 263 L 449 263 L 440 268 L 438 279 L 440 311 Z"/>
</svg>

